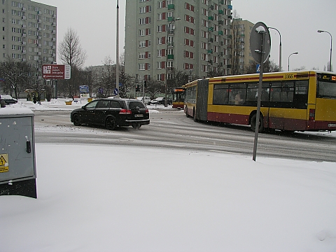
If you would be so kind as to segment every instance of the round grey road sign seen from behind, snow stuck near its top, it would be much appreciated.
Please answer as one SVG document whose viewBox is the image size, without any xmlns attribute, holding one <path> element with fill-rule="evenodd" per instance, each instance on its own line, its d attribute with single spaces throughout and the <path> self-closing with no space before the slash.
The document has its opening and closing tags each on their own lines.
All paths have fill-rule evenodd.
<svg viewBox="0 0 336 252">
<path fill-rule="evenodd" d="M 263 39 L 262 36 L 264 36 Z M 262 43 L 262 41 L 264 41 L 264 43 Z M 269 36 L 268 27 L 263 22 L 257 22 L 252 28 L 250 36 L 250 50 L 253 59 L 258 63 L 261 63 L 261 54 L 264 55 L 264 63 L 269 57 L 269 52 L 271 51 L 271 36 Z"/>
</svg>

